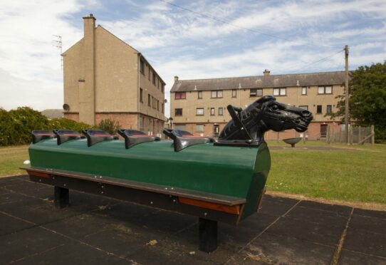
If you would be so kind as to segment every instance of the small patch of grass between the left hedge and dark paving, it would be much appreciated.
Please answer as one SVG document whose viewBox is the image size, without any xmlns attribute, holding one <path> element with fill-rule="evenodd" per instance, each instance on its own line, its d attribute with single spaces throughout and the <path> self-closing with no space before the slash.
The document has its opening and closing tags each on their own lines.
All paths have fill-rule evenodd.
<svg viewBox="0 0 386 265">
<path fill-rule="evenodd" d="M 28 145 L 0 147 L 0 177 L 25 173 L 19 170 L 28 160 Z"/>
</svg>

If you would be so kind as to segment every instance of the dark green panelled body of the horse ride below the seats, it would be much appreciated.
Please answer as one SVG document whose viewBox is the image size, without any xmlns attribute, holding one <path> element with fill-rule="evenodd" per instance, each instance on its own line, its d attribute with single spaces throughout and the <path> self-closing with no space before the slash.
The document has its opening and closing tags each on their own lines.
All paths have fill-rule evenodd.
<svg viewBox="0 0 386 265">
<path fill-rule="evenodd" d="M 29 147 L 31 166 L 169 185 L 247 199 L 243 217 L 256 211 L 271 166 L 266 144 L 259 147 L 193 145 L 174 152 L 172 141 L 145 142 L 125 149 L 124 142 L 86 140 L 61 145 L 42 140 Z"/>
</svg>

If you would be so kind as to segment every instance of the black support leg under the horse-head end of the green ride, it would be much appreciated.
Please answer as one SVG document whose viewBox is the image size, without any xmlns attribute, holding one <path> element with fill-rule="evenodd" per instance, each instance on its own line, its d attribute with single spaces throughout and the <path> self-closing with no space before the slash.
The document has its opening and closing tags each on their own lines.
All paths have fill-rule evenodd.
<svg viewBox="0 0 386 265">
<path fill-rule="evenodd" d="M 217 249 L 217 222 L 199 219 L 199 250 L 207 253 Z"/>
</svg>

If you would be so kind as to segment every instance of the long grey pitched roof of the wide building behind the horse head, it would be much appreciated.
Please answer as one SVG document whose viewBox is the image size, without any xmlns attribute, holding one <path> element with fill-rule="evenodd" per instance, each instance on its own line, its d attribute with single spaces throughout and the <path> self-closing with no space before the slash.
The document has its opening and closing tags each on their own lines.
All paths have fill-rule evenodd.
<svg viewBox="0 0 386 265">
<path fill-rule="evenodd" d="M 297 85 L 341 85 L 344 82 L 345 71 L 296 73 L 288 75 L 178 80 L 174 82 L 170 92 L 227 90 L 235 88 L 283 88 L 296 87 Z"/>
</svg>

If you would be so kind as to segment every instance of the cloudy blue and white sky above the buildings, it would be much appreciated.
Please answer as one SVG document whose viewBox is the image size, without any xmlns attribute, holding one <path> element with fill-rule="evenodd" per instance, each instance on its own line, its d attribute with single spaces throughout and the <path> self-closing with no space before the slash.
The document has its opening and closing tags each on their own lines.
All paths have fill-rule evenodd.
<svg viewBox="0 0 386 265">
<path fill-rule="evenodd" d="M 0 1 L 0 108 L 62 108 L 66 51 L 83 16 L 140 51 L 167 83 L 344 71 L 386 60 L 386 1 Z"/>
</svg>

